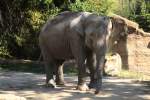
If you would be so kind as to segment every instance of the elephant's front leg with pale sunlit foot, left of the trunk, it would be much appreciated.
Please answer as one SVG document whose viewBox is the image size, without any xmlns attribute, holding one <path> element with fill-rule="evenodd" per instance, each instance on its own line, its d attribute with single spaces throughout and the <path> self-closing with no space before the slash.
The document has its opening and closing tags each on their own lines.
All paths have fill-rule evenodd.
<svg viewBox="0 0 150 100">
<path fill-rule="evenodd" d="M 86 59 L 86 50 L 84 40 L 82 40 L 78 34 L 74 34 L 73 38 L 71 39 L 71 50 L 73 56 L 78 65 L 78 85 L 77 89 L 80 91 L 89 90 L 88 86 L 86 85 L 86 67 L 85 67 L 85 59 Z"/>
</svg>

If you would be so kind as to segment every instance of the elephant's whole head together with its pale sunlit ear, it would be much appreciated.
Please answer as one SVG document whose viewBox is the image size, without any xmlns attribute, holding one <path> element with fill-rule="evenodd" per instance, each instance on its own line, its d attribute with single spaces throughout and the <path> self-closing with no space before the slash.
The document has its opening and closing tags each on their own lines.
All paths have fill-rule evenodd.
<svg viewBox="0 0 150 100">
<path fill-rule="evenodd" d="M 96 49 L 98 45 L 104 44 L 112 31 L 112 22 L 109 17 L 89 12 L 83 12 L 82 16 L 71 22 L 70 26 L 85 38 L 85 45 L 90 49 Z"/>
</svg>

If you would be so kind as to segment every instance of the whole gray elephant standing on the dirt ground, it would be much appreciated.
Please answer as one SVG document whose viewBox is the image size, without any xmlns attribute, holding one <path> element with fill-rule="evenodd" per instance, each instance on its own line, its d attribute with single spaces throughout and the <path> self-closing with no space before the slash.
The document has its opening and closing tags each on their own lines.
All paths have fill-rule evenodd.
<svg viewBox="0 0 150 100">
<path fill-rule="evenodd" d="M 45 61 L 46 85 L 64 85 L 64 61 L 75 59 L 78 65 L 78 86 L 88 90 L 85 84 L 86 66 L 90 71 L 89 88 L 98 93 L 102 86 L 102 69 L 109 37 L 121 32 L 112 29 L 113 23 L 106 16 L 88 12 L 63 12 L 49 20 L 41 30 L 39 44 Z M 115 25 L 115 24 L 114 24 Z M 113 39 L 111 39 L 112 41 Z"/>
</svg>

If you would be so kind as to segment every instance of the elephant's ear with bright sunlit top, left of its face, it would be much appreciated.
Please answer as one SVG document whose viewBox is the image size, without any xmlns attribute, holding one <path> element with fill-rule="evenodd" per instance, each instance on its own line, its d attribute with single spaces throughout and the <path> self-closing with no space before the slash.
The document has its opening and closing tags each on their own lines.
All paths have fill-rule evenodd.
<svg viewBox="0 0 150 100">
<path fill-rule="evenodd" d="M 73 32 L 78 33 L 80 36 L 84 36 L 84 27 L 82 22 L 82 16 L 73 19 L 70 22 L 70 28 Z"/>
</svg>

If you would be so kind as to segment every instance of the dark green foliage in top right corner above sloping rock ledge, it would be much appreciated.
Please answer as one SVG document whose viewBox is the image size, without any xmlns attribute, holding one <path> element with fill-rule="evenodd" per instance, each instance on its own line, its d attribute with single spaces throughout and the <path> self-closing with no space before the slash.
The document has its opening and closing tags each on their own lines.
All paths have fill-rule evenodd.
<svg viewBox="0 0 150 100">
<path fill-rule="evenodd" d="M 137 22 L 144 31 L 150 32 L 150 1 L 135 0 L 134 4 L 134 13 L 130 13 L 129 19 Z"/>
</svg>

